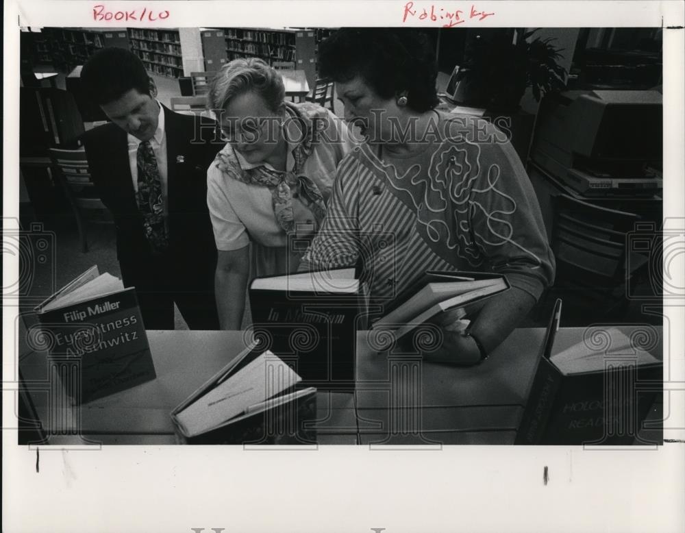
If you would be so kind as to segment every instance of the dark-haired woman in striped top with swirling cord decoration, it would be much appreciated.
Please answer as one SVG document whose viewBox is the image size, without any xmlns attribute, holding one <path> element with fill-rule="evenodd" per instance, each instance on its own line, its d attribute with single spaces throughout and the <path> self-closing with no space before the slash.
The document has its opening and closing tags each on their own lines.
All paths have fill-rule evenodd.
<svg viewBox="0 0 685 533">
<path fill-rule="evenodd" d="M 506 136 L 434 110 L 436 61 L 412 29 L 340 29 L 319 48 L 345 119 L 365 137 L 338 167 L 329 210 L 300 270 L 363 263 L 382 308 L 426 270 L 489 271 L 511 288 L 468 325 L 447 312 L 434 359 L 475 363 L 551 284 L 540 208 Z"/>
</svg>

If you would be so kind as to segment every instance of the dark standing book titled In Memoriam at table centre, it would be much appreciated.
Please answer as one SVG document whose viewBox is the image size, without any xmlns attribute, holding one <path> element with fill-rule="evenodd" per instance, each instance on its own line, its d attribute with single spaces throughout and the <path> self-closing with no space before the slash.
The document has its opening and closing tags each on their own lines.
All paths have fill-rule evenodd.
<svg viewBox="0 0 685 533">
<path fill-rule="evenodd" d="M 354 269 L 258 277 L 249 287 L 256 338 L 319 388 L 354 384 L 356 332 L 366 329 L 366 286 Z"/>
</svg>

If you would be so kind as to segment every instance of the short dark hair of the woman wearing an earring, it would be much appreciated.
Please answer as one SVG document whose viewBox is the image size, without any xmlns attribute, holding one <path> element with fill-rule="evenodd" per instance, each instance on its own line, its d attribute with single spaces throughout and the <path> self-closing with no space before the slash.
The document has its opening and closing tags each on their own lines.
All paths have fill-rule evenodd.
<svg viewBox="0 0 685 533">
<path fill-rule="evenodd" d="M 319 45 L 319 75 L 336 82 L 360 76 L 379 97 L 406 91 L 408 107 L 438 104 L 438 66 L 429 39 L 411 28 L 341 28 Z"/>
</svg>

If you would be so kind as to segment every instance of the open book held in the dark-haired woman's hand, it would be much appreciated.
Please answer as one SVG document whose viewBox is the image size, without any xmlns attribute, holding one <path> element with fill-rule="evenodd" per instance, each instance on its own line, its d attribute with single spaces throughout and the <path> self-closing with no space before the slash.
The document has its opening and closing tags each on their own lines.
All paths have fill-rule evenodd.
<svg viewBox="0 0 685 533">
<path fill-rule="evenodd" d="M 468 318 L 488 297 L 508 288 L 503 275 L 427 271 L 390 303 L 373 328 L 390 330 L 401 338 L 443 311 L 454 310 L 457 319 Z"/>
</svg>

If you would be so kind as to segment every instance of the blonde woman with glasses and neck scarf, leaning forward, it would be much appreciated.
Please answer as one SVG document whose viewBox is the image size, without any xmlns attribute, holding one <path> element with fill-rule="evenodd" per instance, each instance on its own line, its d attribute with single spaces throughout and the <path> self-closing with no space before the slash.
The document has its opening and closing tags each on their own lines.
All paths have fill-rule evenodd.
<svg viewBox="0 0 685 533">
<path fill-rule="evenodd" d="M 286 101 L 278 71 L 257 58 L 226 64 L 212 80 L 209 105 L 227 140 L 207 175 L 214 291 L 222 329 L 238 330 L 250 268 L 253 275 L 297 271 L 302 240 L 323 222 L 350 143 L 329 110 Z"/>
</svg>

